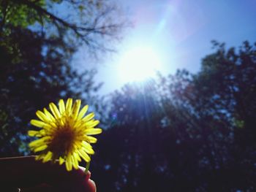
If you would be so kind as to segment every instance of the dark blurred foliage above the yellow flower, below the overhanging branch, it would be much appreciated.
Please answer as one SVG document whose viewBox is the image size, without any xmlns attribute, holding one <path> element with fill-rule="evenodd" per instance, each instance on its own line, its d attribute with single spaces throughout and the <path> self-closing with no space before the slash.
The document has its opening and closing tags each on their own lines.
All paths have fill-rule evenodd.
<svg viewBox="0 0 256 192">
<path fill-rule="evenodd" d="M 15 141 L 12 148 L 17 150 L 20 142 L 28 142 L 25 135 L 36 110 L 59 98 L 80 98 L 84 91 L 83 96 L 89 99 L 97 85 L 93 82 L 94 72 L 78 74 L 72 69 L 69 60 L 75 50 L 62 47 L 61 39 L 42 39 L 37 33 L 20 28 L 12 28 L 7 39 L 15 42 L 12 50 L 19 51 L 15 55 L 7 45 L 0 47 L 3 50 L 0 75 L 4 79 L 0 83 L 0 109 L 9 114 L 8 137 L 0 142 L 8 154 L 10 150 L 6 146 L 10 139 Z"/>
</svg>

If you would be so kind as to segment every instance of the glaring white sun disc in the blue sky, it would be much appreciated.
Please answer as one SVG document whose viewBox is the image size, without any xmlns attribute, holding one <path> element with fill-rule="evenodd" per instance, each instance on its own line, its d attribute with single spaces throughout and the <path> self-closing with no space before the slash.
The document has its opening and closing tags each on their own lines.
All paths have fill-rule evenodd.
<svg viewBox="0 0 256 192">
<path fill-rule="evenodd" d="M 161 58 L 153 47 L 135 47 L 121 55 L 118 74 L 122 82 L 141 82 L 159 71 Z"/>
</svg>

